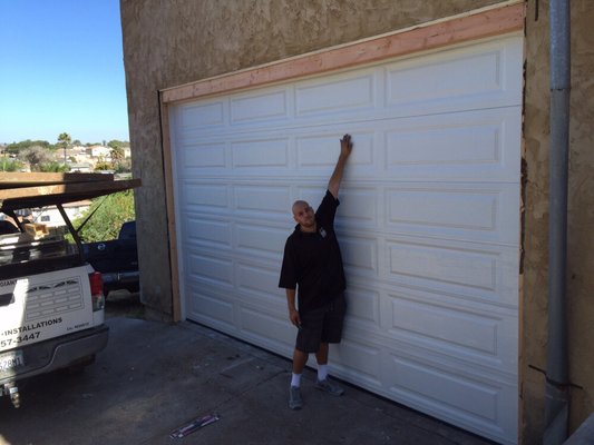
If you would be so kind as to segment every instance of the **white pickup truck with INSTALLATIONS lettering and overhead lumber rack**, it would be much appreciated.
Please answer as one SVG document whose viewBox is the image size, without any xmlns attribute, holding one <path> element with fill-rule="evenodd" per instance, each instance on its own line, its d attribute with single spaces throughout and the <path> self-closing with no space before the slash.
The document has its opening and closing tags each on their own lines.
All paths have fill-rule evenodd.
<svg viewBox="0 0 594 445">
<path fill-rule="evenodd" d="M 108 340 L 101 275 L 85 261 L 62 205 L 139 185 L 110 175 L 25 175 L 0 174 L 0 211 L 9 217 L 0 225 L 0 395 L 16 407 L 18 382 L 90 364 Z M 75 244 L 17 215 L 50 205 Z"/>
</svg>

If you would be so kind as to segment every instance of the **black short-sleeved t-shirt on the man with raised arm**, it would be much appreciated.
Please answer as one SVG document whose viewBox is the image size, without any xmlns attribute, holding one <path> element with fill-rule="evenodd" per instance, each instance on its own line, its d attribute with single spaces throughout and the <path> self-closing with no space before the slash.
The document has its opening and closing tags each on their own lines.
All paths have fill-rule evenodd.
<svg viewBox="0 0 594 445">
<path fill-rule="evenodd" d="M 318 230 L 309 234 L 296 225 L 286 239 L 279 287 L 298 289 L 302 314 L 330 303 L 345 288 L 342 256 L 334 233 L 339 205 L 327 191 L 315 211 Z"/>
</svg>

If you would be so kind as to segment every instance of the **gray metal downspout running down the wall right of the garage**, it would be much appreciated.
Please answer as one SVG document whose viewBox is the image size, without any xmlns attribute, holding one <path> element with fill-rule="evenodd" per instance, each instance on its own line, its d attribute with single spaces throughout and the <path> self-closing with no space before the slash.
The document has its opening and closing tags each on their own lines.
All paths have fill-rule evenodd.
<svg viewBox="0 0 594 445">
<path fill-rule="evenodd" d="M 545 445 L 567 438 L 569 378 L 567 359 L 566 265 L 569 146 L 569 0 L 549 1 L 551 137 L 548 214 L 548 343 Z"/>
</svg>

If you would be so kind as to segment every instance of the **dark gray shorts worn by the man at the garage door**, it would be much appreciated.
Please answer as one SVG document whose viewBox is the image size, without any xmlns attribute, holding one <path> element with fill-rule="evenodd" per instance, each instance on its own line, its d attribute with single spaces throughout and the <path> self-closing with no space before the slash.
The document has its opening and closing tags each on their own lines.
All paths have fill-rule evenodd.
<svg viewBox="0 0 594 445">
<path fill-rule="evenodd" d="M 295 349 L 317 353 L 321 343 L 340 343 L 345 312 L 347 301 L 344 295 L 340 295 L 327 306 L 300 314 Z"/>
</svg>

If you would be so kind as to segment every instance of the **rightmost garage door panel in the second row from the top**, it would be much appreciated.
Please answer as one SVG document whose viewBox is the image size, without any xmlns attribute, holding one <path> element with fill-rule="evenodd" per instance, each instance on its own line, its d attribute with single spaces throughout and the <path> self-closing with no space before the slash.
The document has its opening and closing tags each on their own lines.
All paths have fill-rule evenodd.
<svg viewBox="0 0 594 445">
<path fill-rule="evenodd" d="M 407 180 L 519 181 L 520 107 L 391 121 L 386 175 Z"/>
</svg>

